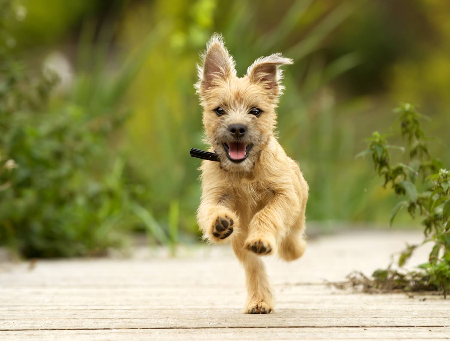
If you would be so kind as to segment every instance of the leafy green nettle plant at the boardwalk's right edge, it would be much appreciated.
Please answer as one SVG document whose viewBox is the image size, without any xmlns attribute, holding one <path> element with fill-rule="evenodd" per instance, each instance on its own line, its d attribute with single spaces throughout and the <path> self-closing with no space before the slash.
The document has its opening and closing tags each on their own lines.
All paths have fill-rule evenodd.
<svg viewBox="0 0 450 341">
<path fill-rule="evenodd" d="M 429 153 L 430 139 L 420 124 L 424 116 L 409 103 L 402 103 L 395 111 L 399 113 L 409 164 L 392 163 L 389 149 L 405 151 L 405 148 L 388 144 L 387 136 L 378 132 L 367 139 L 369 148 L 357 157 L 371 155 L 377 175 L 384 180 L 383 187 L 390 186 L 397 195 L 405 197 L 393 209 L 391 225 L 401 209 L 406 209 L 413 219 L 422 219 L 425 238 L 421 245 L 432 242 L 432 251 L 417 271 L 394 270 L 390 266 L 375 271 L 373 279 L 360 276 L 350 279 L 354 284 L 363 284 L 367 290 L 441 291 L 446 297 L 450 289 L 450 171 Z M 400 268 L 419 246 L 408 245 L 401 252 Z"/>
</svg>

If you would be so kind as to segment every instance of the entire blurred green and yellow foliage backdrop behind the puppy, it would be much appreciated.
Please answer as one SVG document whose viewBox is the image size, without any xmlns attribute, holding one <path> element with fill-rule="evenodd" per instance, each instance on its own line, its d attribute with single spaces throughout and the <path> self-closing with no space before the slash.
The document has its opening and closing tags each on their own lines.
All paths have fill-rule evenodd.
<svg viewBox="0 0 450 341">
<path fill-rule="evenodd" d="M 450 163 L 446 1 L 0 0 L 0 244 L 54 257 L 102 255 L 133 233 L 172 251 L 198 241 L 193 83 L 215 31 L 240 75 L 261 55 L 295 60 L 279 140 L 322 229 L 387 227 L 397 199 L 354 156 L 394 129 L 399 101 L 432 118 L 433 153 Z"/>
</svg>

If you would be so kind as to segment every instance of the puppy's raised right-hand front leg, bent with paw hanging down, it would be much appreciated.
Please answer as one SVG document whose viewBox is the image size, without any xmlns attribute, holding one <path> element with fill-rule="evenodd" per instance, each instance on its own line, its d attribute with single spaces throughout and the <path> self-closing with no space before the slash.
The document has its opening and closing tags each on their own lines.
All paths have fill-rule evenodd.
<svg viewBox="0 0 450 341">
<path fill-rule="evenodd" d="M 274 191 L 266 206 L 250 221 L 244 248 L 257 255 L 274 254 L 277 238 L 294 223 L 299 210 L 300 198 L 294 190 Z"/>
</svg>

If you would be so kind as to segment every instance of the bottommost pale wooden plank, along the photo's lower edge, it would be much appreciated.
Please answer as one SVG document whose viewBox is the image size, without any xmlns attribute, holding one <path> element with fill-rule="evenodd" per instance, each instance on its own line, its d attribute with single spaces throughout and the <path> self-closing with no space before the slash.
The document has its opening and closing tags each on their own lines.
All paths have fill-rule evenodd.
<svg viewBox="0 0 450 341">
<path fill-rule="evenodd" d="M 449 328 L 199 328 L 0 332 L 2 341 L 449 340 Z"/>
</svg>

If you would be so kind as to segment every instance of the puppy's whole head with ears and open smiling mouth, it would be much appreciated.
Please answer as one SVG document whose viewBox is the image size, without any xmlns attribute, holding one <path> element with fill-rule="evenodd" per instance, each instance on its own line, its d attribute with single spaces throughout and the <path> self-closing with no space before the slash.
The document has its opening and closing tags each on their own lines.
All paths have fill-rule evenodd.
<svg viewBox="0 0 450 341">
<path fill-rule="evenodd" d="M 233 57 L 218 35 L 211 37 L 202 57 L 195 86 L 207 142 L 219 155 L 223 169 L 248 172 L 275 129 L 275 108 L 283 90 L 278 66 L 292 64 L 292 60 L 281 54 L 258 58 L 247 75 L 239 78 Z"/>
</svg>

